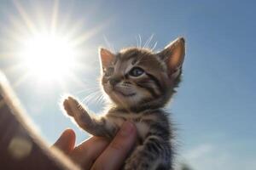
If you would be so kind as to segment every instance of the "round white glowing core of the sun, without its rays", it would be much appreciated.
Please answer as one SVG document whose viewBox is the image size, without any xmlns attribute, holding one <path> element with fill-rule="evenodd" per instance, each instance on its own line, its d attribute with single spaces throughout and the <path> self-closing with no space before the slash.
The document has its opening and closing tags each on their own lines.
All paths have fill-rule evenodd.
<svg viewBox="0 0 256 170">
<path fill-rule="evenodd" d="M 75 50 L 67 39 L 42 33 L 24 42 L 21 57 L 34 77 L 55 81 L 73 68 Z"/>
</svg>

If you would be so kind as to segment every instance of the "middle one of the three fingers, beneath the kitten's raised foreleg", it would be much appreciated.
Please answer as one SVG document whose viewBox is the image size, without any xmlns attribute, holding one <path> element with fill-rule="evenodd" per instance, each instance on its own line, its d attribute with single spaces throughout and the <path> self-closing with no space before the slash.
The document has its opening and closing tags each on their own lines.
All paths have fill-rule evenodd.
<svg viewBox="0 0 256 170">
<path fill-rule="evenodd" d="M 79 144 L 70 154 L 70 157 L 81 167 L 84 167 L 84 169 L 90 169 L 93 162 L 102 154 L 102 151 L 106 149 L 108 144 L 107 139 L 92 137 Z"/>
</svg>

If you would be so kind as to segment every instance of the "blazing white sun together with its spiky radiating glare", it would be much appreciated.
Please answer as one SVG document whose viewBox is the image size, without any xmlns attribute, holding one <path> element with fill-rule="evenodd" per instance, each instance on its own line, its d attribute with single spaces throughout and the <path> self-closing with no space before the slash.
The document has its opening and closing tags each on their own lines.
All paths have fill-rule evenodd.
<svg viewBox="0 0 256 170">
<path fill-rule="evenodd" d="M 78 60 L 90 56 L 90 48 L 85 44 L 106 23 L 84 31 L 84 20 L 73 19 L 67 11 L 61 14 L 59 3 L 52 1 L 49 7 L 52 11 L 45 9 L 47 14 L 44 14 L 44 8 L 33 4 L 33 8 L 39 8 L 34 14 L 31 8 L 24 8 L 20 1 L 14 1 L 18 14 L 9 14 L 10 27 L 4 29 L 6 51 L 1 53 L 18 61 L 7 68 L 8 71 L 20 71 L 14 86 L 27 80 L 40 82 L 38 85 L 45 85 L 45 82 L 57 84 L 61 88 L 67 88 L 69 80 L 84 85 L 75 72 L 87 71 L 91 65 Z"/>
</svg>

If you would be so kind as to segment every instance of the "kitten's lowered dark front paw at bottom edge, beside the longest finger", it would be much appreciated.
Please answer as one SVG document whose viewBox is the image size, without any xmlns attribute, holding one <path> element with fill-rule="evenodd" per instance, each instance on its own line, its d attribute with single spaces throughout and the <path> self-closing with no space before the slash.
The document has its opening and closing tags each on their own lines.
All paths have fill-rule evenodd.
<svg viewBox="0 0 256 170">
<path fill-rule="evenodd" d="M 147 170 L 149 160 L 143 154 L 143 147 L 137 148 L 125 162 L 125 170 Z"/>
</svg>

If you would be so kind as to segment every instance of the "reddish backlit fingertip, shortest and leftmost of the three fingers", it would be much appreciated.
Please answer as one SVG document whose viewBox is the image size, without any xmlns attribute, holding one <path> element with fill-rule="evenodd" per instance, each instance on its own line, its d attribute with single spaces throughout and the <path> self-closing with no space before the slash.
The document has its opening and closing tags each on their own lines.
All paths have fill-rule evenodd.
<svg viewBox="0 0 256 170">
<path fill-rule="evenodd" d="M 72 129 L 66 129 L 53 146 L 62 150 L 65 154 L 69 154 L 74 148 L 75 141 L 76 134 Z"/>
</svg>

